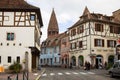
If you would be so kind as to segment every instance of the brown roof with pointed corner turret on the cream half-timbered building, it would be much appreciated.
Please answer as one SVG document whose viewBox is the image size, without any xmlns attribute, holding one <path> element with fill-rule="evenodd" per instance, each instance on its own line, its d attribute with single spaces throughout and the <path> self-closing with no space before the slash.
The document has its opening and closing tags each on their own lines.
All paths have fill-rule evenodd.
<svg viewBox="0 0 120 80">
<path fill-rule="evenodd" d="M 84 22 L 90 21 L 90 20 L 120 25 L 120 21 L 117 20 L 116 18 L 114 18 L 114 16 L 106 16 L 106 15 L 99 14 L 99 13 L 90 13 L 88 8 L 86 7 L 83 12 L 83 15 L 80 17 L 80 19 L 73 26 L 71 26 L 68 29 L 76 27 L 76 26 L 78 26 Z"/>
</svg>

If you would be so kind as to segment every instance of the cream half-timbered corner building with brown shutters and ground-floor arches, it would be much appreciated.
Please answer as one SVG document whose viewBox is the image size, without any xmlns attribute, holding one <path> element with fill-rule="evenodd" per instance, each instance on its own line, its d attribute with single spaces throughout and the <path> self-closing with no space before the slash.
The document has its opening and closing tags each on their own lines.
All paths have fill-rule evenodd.
<svg viewBox="0 0 120 80">
<path fill-rule="evenodd" d="M 120 11 L 112 16 L 90 13 L 86 7 L 80 19 L 68 28 L 70 39 L 70 62 L 83 66 L 85 61 L 92 67 L 114 62 L 114 49 L 120 34 Z M 117 16 L 116 16 L 117 15 Z"/>
</svg>

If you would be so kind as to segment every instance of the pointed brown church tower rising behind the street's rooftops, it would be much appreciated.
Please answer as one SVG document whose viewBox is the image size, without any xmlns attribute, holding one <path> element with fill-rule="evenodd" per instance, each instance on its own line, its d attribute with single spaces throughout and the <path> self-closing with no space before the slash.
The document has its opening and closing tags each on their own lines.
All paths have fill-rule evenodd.
<svg viewBox="0 0 120 80">
<path fill-rule="evenodd" d="M 59 34 L 58 22 L 57 22 L 55 11 L 53 9 L 50 17 L 49 25 L 48 25 L 47 35 L 49 38 L 49 37 L 56 36 L 58 34 Z"/>
</svg>

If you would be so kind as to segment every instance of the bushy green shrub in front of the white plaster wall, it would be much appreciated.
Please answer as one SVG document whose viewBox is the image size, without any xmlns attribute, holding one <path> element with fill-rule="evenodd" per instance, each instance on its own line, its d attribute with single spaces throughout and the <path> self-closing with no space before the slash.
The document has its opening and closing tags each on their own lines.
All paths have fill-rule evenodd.
<svg viewBox="0 0 120 80">
<path fill-rule="evenodd" d="M 17 62 L 14 62 L 13 64 L 9 66 L 9 70 L 15 73 L 20 72 L 22 70 L 22 65 Z"/>
</svg>

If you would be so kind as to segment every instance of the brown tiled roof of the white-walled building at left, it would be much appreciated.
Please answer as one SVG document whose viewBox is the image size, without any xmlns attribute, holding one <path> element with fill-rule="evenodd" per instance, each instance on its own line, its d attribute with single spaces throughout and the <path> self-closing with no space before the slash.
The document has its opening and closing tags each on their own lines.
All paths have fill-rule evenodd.
<svg viewBox="0 0 120 80">
<path fill-rule="evenodd" d="M 24 0 L 0 0 L 0 11 L 36 12 L 39 22 L 43 26 L 40 8 L 30 5 Z"/>
</svg>

